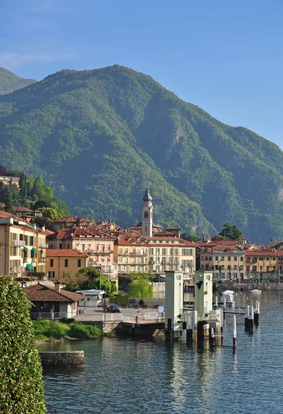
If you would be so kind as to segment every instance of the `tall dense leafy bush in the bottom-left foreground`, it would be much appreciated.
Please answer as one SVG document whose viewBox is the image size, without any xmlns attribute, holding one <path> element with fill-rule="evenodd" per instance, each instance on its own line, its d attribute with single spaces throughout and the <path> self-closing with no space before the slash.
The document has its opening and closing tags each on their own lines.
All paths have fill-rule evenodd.
<svg viewBox="0 0 283 414">
<path fill-rule="evenodd" d="M 0 276 L 0 412 L 43 414 L 42 368 L 23 288 Z"/>
</svg>

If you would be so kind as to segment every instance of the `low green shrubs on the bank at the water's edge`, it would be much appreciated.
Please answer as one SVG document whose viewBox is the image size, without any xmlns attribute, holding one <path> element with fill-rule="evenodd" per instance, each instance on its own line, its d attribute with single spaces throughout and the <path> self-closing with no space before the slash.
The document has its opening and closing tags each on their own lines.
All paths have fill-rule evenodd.
<svg viewBox="0 0 283 414">
<path fill-rule="evenodd" d="M 78 324 L 78 322 L 63 324 L 58 321 L 36 319 L 33 321 L 33 326 L 36 339 L 90 338 L 102 335 L 101 330 L 96 326 Z"/>
</svg>

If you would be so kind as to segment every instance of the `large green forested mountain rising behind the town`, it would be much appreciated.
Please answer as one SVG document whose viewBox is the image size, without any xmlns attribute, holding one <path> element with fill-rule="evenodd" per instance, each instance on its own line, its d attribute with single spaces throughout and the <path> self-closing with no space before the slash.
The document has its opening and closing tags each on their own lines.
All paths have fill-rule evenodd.
<svg viewBox="0 0 283 414">
<path fill-rule="evenodd" d="M 156 223 L 283 238 L 280 148 L 128 68 L 62 70 L 0 97 L 0 164 L 41 175 L 96 220 L 140 221 L 149 186 Z"/>
</svg>

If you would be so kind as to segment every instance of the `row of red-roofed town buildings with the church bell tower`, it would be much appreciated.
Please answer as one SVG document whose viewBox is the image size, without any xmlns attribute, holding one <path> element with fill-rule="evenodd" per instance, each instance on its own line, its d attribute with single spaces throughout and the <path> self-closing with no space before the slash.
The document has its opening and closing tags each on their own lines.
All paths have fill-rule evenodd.
<svg viewBox="0 0 283 414">
<path fill-rule="evenodd" d="M 190 242 L 181 237 L 180 228 L 154 224 L 148 188 L 136 226 L 120 228 L 111 220 L 67 216 L 50 221 L 58 228 L 52 231 L 34 224 L 34 217 L 41 214 L 41 210 L 23 206 L 14 206 L 14 213 L 0 211 L 1 274 L 17 280 L 67 283 L 81 268 L 96 268 L 118 288 L 118 275 L 163 277 L 166 270 L 182 271 L 191 282 L 196 270 L 212 271 L 218 282 L 272 282 L 278 280 L 283 266 L 283 242 L 262 245 L 244 237 L 233 240 L 219 235 Z"/>
</svg>

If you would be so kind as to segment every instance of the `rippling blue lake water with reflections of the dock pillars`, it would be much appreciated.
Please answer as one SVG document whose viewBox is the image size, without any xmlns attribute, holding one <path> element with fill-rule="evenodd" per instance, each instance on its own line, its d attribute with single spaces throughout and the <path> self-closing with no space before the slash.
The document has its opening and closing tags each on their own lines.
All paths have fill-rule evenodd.
<svg viewBox="0 0 283 414">
<path fill-rule="evenodd" d="M 244 308 L 247 293 L 235 297 Z M 41 349 L 85 351 L 85 367 L 44 371 L 45 400 L 59 414 L 283 413 L 283 293 L 260 295 L 260 325 L 244 332 L 238 349 L 188 347 L 184 339 L 103 338 Z M 231 317 L 224 333 L 231 334 Z"/>
</svg>

